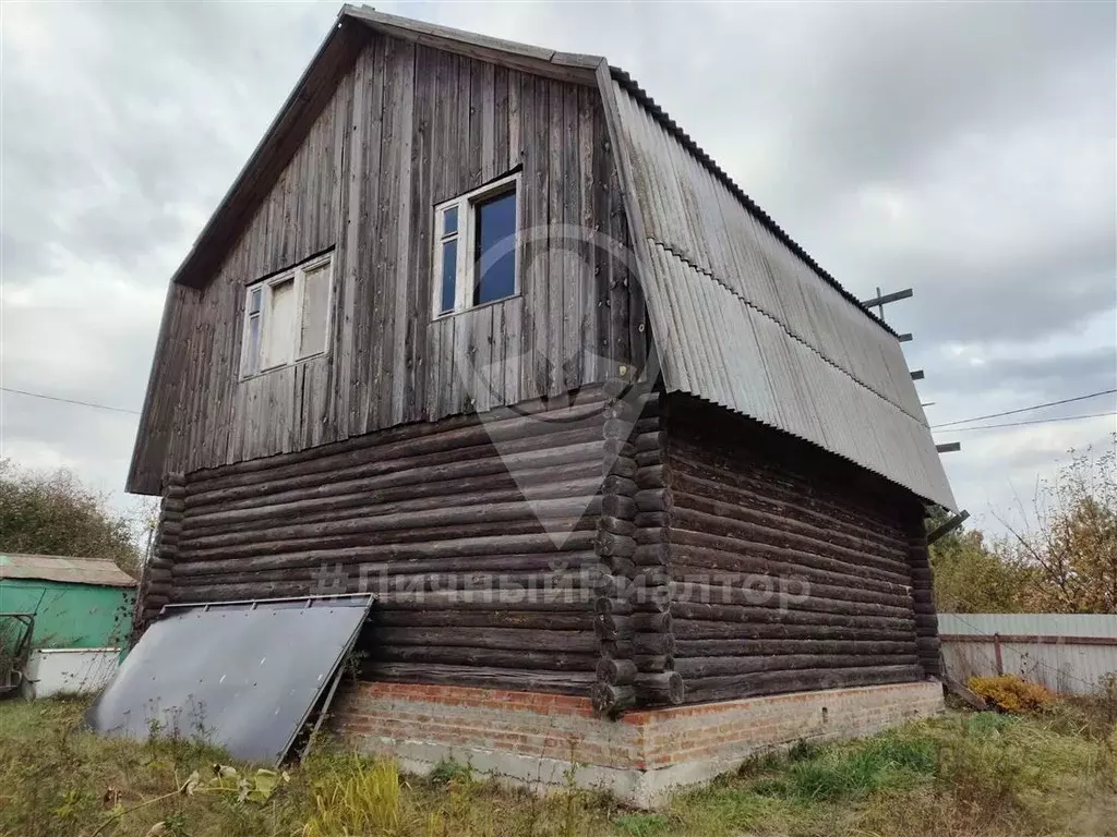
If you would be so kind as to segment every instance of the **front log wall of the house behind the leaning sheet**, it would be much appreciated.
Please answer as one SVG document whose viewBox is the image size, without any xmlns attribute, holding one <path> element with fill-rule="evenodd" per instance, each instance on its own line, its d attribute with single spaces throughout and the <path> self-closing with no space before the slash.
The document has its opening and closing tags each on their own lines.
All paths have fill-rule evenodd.
<svg viewBox="0 0 1117 837">
<path fill-rule="evenodd" d="M 586 695 L 604 406 L 588 388 L 189 473 L 145 614 L 372 591 L 369 679 Z"/>
</svg>

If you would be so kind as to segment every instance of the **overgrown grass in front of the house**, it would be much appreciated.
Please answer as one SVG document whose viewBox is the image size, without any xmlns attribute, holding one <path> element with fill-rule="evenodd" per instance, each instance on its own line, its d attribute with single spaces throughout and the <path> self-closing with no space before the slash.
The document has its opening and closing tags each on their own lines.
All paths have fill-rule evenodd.
<svg viewBox="0 0 1117 837">
<path fill-rule="evenodd" d="M 1108 704 L 1028 718 L 951 713 L 860 742 L 802 742 L 674 797 L 619 808 L 571 787 L 502 789 L 454 762 L 426 779 L 326 742 L 262 801 L 211 787 L 214 748 L 76 731 L 75 701 L 0 703 L 2 837 L 1117 836 Z M 233 764 L 238 776 L 249 766 Z M 179 792 L 198 771 L 195 792 Z M 231 790 L 230 790 L 231 789 Z M 98 831 L 98 829 L 101 829 Z"/>
</svg>

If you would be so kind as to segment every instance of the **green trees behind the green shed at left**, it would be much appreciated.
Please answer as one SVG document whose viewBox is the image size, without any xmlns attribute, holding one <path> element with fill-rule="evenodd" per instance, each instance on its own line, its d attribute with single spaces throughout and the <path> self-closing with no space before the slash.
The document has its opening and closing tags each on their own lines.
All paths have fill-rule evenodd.
<svg viewBox="0 0 1117 837">
<path fill-rule="evenodd" d="M 0 460 L 0 550 L 107 558 L 139 571 L 142 550 L 134 533 L 143 519 L 120 514 L 108 499 L 65 469 L 22 471 Z"/>
</svg>

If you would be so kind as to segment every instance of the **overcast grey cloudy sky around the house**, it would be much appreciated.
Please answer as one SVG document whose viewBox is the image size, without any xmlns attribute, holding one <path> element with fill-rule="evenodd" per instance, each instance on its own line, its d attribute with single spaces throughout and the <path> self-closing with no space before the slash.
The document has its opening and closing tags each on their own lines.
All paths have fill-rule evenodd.
<svg viewBox="0 0 1117 837">
<path fill-rule="evenodd" d="M 915 288 L 887 317 L 933 424 L 1117 386 L 1117 4 L 376 8 L 629 70 L 852 292 Z M 139 410 L 166 282 L 337 9 L 0 3 L 3 386 Z M 128 502 L 135 415 L 3 393 L 0 420 L 4 456 Z M 992 525 L 1115 429 L 936 437 Z"/>
</svg>

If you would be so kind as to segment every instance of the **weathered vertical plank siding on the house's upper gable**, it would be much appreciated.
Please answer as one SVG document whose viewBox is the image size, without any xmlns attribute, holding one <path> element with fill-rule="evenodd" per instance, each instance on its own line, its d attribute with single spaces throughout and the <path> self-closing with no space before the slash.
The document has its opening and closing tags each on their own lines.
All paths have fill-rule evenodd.
<svg viewBox="0 0 1117 837">
<path fill-rule="evenodd" d="M 433 206 L 517 166 L 523 221 L 543 230 L 521 294 L 433 320 Z M 216 276 L 172 289 L 133 487 L 602 381 L 593 355 L 628 354 L 604 329 L 629 287 L 576 238 L 548 237 L 563 223 L 627 246 L 595 88 L 372 36 Z M 240 381 L 245 286 L 325 251 L 328 353 Z M 623 309 L 612 324 L 609 306 Z"/>
</svg>

